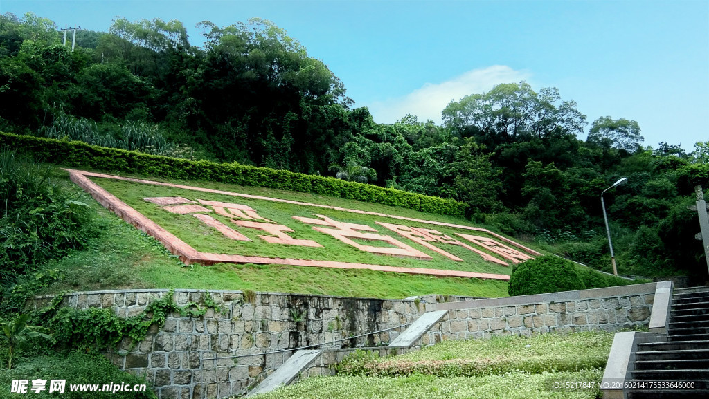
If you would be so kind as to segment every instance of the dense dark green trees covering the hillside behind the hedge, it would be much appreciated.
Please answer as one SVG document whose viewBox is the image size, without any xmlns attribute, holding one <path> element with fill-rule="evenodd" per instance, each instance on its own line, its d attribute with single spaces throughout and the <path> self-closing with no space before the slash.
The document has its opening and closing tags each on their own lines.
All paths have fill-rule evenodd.
<svg viewBox="0 0 709 399">
<path fill-rule="evenodd" d="M 693 187 L 709 189 L 709 142 L 645 146 L 622 116 L 589 125 L 554 88 L 501 84 L 450 103 L 443 125 L 374 122 L 327 60 L 269 21 L 199 25 L 116 18 L 79 30 L 0 16 L 0 130 L 171 157 L 337 176 L 469 204 L 477 223 L 610 269 L 605 194 L 622 274 L 707 280 Z M 197 46 L 195 43 L 202 43 Z"/>
</svg>

